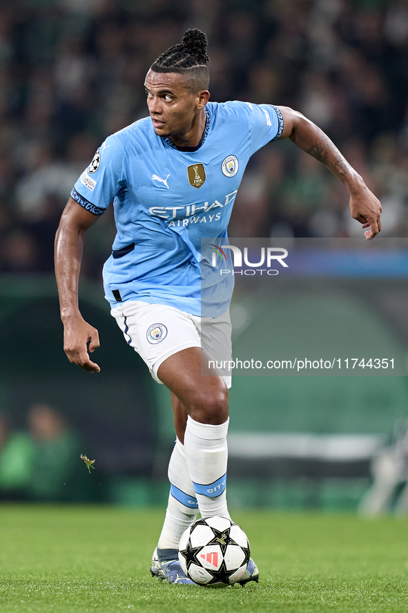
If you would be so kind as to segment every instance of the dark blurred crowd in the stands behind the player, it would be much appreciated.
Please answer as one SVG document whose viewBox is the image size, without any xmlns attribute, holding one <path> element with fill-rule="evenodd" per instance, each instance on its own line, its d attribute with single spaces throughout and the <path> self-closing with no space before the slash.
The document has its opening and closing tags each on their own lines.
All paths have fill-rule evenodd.
<svg viewBox="0 0 408 613">
<path fill-rule="evenodd" d="M 70 189 L 107 135 L 147 114 L 144 77 L 206 32 L 211 99 L 291 106 L 317 123 L 408 232 L 407 0 L 16 0 L 0 8 L 0 272 L 52 270 Z M 231 236 L 356 236 L 347 192 L 291 142 L 251 161 Z M 99 279 L 113 218 L 88 238 Z"/>
</svg>

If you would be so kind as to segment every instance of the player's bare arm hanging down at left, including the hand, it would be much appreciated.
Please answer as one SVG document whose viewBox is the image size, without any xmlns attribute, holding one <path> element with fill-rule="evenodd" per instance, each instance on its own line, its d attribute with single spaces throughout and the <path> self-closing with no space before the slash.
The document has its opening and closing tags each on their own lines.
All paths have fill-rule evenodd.
<svg viewBox="0 0 408 613">
<path fill-rule="evenodd" d="M 81 316 L 78 280 L 81 270 L 84 234 L 98 216 L 68 200 L 55 236 L 55 276 L 57 277 L 61 320 L 64 323 L 64 351 L 70 362 L 88 372 L 101 370 L 90 360 L 88 350 L 99 347 L 98 331 Z M 89 343 L 89 346 L 88 346 Z"/>
</svg>

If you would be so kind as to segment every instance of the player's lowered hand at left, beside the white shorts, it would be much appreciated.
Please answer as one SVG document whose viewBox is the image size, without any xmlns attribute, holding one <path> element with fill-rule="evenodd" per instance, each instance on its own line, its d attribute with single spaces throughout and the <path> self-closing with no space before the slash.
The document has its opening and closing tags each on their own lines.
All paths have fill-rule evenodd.
<svg viewBox="0 0 408 613">
<path fill-rule="evenodd" d="M 84 319 L 64 322 L 64 351 L 70 362 L 81 366 L 88 372 L 99 372 L 101 369 L 90 360 L 88 354 L 88 350 L 92 353 L 98 347 L 98 331 Z"/>
</svg>

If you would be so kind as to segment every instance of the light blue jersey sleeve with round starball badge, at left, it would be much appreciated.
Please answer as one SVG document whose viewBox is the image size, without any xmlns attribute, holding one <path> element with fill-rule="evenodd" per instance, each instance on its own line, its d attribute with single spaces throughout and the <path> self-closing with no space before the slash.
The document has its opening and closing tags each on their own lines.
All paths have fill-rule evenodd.
<svg viewBox="0 0 408 613">
<path fill-rule="evenodd" d="M 125 185 L 124 148 L 117 136 L 109 136 L 93 156 L 72 191 L 71 198 L 95 215 L 101 215 Z"/>
</svg>

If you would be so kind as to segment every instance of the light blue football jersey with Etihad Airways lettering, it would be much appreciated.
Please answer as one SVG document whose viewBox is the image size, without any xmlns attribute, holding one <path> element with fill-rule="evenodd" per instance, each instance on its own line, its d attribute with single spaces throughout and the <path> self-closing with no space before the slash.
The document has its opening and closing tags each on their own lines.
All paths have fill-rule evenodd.
<svg viewBox="0 0 408 613">
<path fill-rule="evenodd" d="M 140 300 L 202 314 L 201 239 L 225 244 L 246 164 L 282 129 L 275 106 L 208 102 L 195 148 L 157 136 L 150 117 L 106 139 L 71 196 L 96 215 L 113 201 L 117 234 L 103 271 L 111 305 Z M 230 299 L 231 287 L 217 293 L 213 317 Z"/>
</svg>

